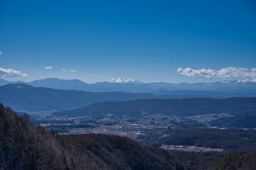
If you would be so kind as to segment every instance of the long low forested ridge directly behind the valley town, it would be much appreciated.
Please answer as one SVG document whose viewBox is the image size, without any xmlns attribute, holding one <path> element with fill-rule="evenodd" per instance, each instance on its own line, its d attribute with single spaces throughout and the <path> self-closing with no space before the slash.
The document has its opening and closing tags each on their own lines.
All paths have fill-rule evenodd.
<svg viewBox="0 0 256 170">
<path fill-rule="evenodd" d="M 138 115 L 139 113 L 165 115 L 199 115 L 229 113 L 231 115 L 255 114 L 256 98 L 183 98 L 141 99 L 136 101 L 93 103 L 85 108 L 53 113 L 53 115 Z"/>
</svg>

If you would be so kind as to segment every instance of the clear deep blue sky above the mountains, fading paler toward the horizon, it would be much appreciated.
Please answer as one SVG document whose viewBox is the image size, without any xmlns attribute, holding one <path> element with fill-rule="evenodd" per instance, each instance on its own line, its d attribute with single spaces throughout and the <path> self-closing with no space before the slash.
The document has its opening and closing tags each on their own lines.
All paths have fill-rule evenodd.
<svg viewBox="0 0 256 170">
<path fill-rule="evenodd" d="M 256 1 L 0 0 L 0 51 L 8 80 L 218 81 L 177 69 L 255 68 Z"/>
</svg>

